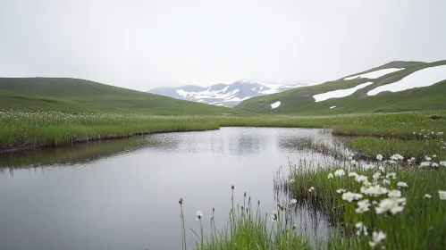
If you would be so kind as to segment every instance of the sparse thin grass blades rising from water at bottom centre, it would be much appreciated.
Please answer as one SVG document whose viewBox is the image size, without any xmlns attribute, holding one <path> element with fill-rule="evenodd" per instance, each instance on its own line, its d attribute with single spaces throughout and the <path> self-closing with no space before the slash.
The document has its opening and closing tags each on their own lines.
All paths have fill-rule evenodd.
<svg viewBox="0 0 446 250">
<path fill-rule="evenodd" d="M 234 189 L 231 191 L 231 209 L 223 228 L 215 225 L 216 214 L 213 209 L 210 232 L 207 234 L 209 237 L 205 238 L 202 225 L 204 219 L 197 218 L 200 231 L 193 230 L 197 237 L 196 249 L 311 249 L 307 238 L 299 235 L 292 221 L 285 219 L 286 211 L 291 211 L 290 207 L 279 205 L 277 211 L 268 215 L 261 211 L 260 201 L 257 202 L 257 208 L 253 208 L 251 197 L 247 197 L 246 193 L 243 204 L 234 204 Z M 272 220 L 272 223 L 268 223 L 268 220 Z M 181 221 L 181 232 L 184 232 L 182 212 Z M 182 239 L 185 242 L 184 235 Z"/>
</svg>

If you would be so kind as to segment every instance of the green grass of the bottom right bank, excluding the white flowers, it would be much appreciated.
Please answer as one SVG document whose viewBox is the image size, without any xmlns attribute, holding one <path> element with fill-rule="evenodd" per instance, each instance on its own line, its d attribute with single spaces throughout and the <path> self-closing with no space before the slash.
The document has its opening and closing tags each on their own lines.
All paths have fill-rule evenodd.
<svg viewBox="0 0 446 250">
<path fill-rule="evenodd" d="M 384 171 L 378 170 L 380 166 Z M 328 175 L 337 170 L 344 170 L 345 176 L 328 179 Z M 402 212 L 396 214 L 378 214 L 375 209 L 379 206 L 382 196 L 366 196 L 370 202 L 370 210 L 358 213 L 357 202 L 348 202 L 342 198 L 343 193 L 337 190 L 361 194 L 363 184 L 349 177 L 349 172 L 367 176 L 372 179 L 375 172 L 396 173 L 396 179 L 383 185 L 388 190 L 400 190 L 401 196 L 407 198 L 407 204 Z M 373 231 L 383 231 L 385 240 L 380 246 L 390 249 L 444 249 L 446 246 L 446 201 L 440 199 L 439 190 L 446 189 L 444 179 L 446 168 L 420 169 L 417 166 L 403 166 L 400 163 L 387 164 L 378 162 L 373 169 L 366 169 L 358 165 L 343 166 L 314 166 L 306 162 L 299 162 L 291 166 L 291 179 L 282 179 L 282 191 L 290 198 L 298 200 L 298 204 L 305 204 L 315 210 L 323 212 L 327 221 L 332 225 L 332 235 L 322 248 L 329 249 L 365 249 L 370 247 Z M 397 183 L 404 181 L 408 187 L 398 187 Z M 312 192 L 308 189 L 314 187 Z M 429 194 L 432 198 L 426 198 Z M 373 204 L 376 202 L 376 204 Z M 355 224 L 359 221 L 366 225 L 367 235 L 357 235 Z"/>
</svg>

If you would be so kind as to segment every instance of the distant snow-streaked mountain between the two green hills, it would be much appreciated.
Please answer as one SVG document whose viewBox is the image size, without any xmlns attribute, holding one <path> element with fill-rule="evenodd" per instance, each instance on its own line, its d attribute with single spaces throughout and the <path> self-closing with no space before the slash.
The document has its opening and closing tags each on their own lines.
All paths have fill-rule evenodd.
<svg viewBox="0 0 446 250">
<path fill-rule="evenodd" d="M 148 92 L 198 103 L 233 107 L 254 96 L 265 96 L 289 90 L 291 88 L 305 86 L 307 86 L 307 84 L 273 84 L 243 79 L 231 84 L 218 83 L 209 87 L 199 87 L 194 85 L 157 87 Z"/>
</svg>

